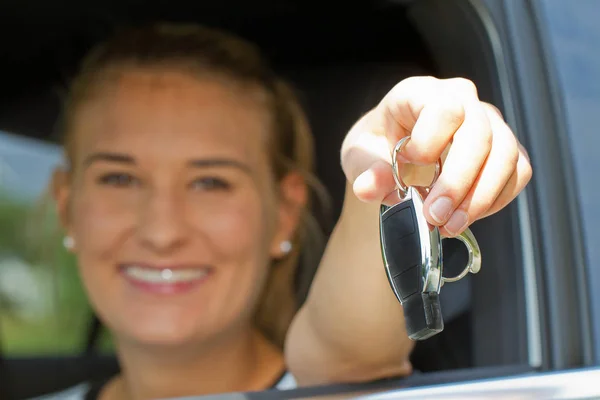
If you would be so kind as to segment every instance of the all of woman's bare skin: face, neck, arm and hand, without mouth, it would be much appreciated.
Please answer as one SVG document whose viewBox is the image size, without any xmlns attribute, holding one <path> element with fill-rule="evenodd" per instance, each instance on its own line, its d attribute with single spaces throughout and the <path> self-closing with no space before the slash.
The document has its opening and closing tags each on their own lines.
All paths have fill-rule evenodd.
<svg viewBox="0 0 600 400">
<path fill-rule="evenodd" d="M 306 188 L 294 174 L 274 182 L 266 121 L 252 96 L 168 71 L 124 73 L 78 112 L 74 165 L 56 174 L 55 193 L 123 365 L 104 399 L 261 390 L 284 362 L 301 385 L 409 374 L 413 343 L 383 273 L 378 236 L 379 203 L 394 190 L 390 149 L 411 133 L 404 161 L 425 165 L 445 155 L 425 214 L 448 236 L 506 206 L 531 178 L 526 153 L 470 82 L 400 82 L 344 141 L 342 215 L 284 356 L 250 317 L 269 259 L 281 256 L 279 244 L 298 225 Z M 131 160 L 86 161 L 99 152 Z M 215 158 L 229 161 L 190 165 Z M 115 171 L 135 179 L 124 186 L 98 179 Z M 403 172 L 413 184 L 431 176 L 429 167 Z M 436 219 L 429 206 L 441 196 L 450 211 Z M 211 273 L 197 290 L 161 297 L 123 278 L 119 266 L 131 262 L 201 263 Z"/>
</svg>

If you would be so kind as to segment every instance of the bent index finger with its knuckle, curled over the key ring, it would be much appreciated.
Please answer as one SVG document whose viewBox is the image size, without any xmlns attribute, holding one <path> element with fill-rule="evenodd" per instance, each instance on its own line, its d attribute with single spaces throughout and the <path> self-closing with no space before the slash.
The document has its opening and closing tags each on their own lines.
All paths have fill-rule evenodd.
<svg viewBox="0 0 600 400">
<path fill-rule="evenodd" d="M 462 100 L 468 98 L 476 99 L 476 90 L 462 80 L 409 78 L 396 85 L 382 101 L 381 113 L 390 148 L 411 135 L 399 161 L 435 163 L 463 123 Z"/>
</svg>

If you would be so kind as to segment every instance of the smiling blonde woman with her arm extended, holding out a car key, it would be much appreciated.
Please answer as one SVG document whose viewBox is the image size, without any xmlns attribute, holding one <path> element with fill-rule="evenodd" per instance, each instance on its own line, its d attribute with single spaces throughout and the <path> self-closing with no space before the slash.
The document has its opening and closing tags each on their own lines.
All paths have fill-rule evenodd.
<svg viewBox="0 0 600 400">
<path fill-rule="evenodd" d="M 344 141 L 344 207 L 297 310 L 312 141 L 292 92 L 252 45 L 197 26 L 118 35 L 84 61 L 62 128 L 68 167 L 53 187 L 65 246 L 121 365 L 108 382 L 62 393 L 72 398 L 410 374 L 412 343 L 378 236 L 379 202 L 395 189 L 390 149 L 411 134 L 402 161 L 447 154 L 425 203 L 446 235 L 503 208 L 531 177 L 472 83 L 400 82 Z M 429 167 L 406 170 L 414 184 L 430 179 Z"/>
</svg>

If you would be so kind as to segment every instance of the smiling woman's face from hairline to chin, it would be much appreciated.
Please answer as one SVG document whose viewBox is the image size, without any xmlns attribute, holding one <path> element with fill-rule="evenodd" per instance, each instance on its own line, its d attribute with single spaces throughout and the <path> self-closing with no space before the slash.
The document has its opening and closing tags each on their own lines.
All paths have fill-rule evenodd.
<svg viewBox="0 0 600 400">
<path fill-rule="evenodd" d="M 269 134 L 256 98 L 176 72 L 123 72 L 78 107 L 57 203 L 117 337 L 174 344 L 248 325 L 294 229 Z"/>
</svg>

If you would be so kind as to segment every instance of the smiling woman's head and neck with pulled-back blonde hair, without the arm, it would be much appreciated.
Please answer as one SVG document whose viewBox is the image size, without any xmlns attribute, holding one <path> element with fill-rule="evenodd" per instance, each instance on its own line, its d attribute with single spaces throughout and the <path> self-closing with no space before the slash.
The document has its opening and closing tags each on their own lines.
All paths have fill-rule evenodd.
<svg viewBox="0 0 600 400">
<path fill-rule="evenodd" d="M 270 75 L 238 39 L 161 26 L 100 47 L 73 83 L 68 168 L 53 187 L 88 296 L 125 374 L 148 375 L 139 363 L 158 351 L 160 364 L 206 377 L 152 396 L 262 389 L 285 369 L 277 347 L 312 226 L 312 141 L 291 91 Z M 123 382 L 107 396 L 146 395 Z"/>
</svg>

